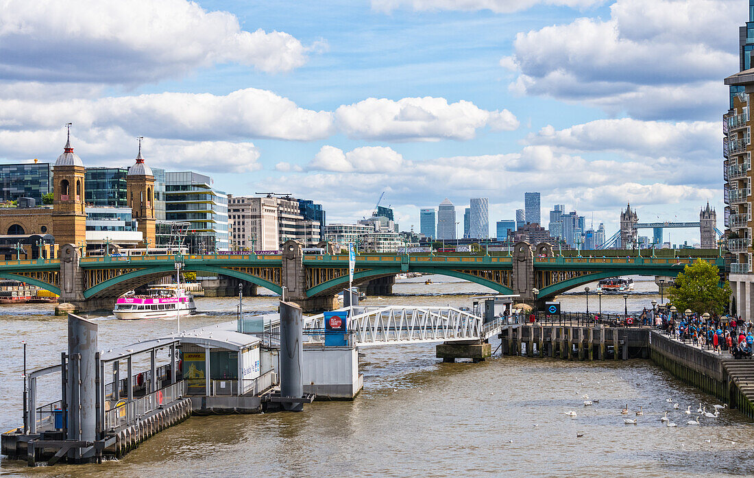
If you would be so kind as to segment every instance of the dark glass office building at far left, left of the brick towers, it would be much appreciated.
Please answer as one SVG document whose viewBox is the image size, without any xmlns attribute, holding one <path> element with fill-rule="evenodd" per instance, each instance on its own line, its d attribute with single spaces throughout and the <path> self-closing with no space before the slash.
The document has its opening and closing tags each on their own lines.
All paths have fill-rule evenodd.
<svg viewBox="0 0 754 478">
<path fill-rule="evenodd" d="M 52 192 L 50 163 L 0 164 L 0 195 L 2 201 L 34 198 L 42 204 L 42 196 Z"/>
</svg>

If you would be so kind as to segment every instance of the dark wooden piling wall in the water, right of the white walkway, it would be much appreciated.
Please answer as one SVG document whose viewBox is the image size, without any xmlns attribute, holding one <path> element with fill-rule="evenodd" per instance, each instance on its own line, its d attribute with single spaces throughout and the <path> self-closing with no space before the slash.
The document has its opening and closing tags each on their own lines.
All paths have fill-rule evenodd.
<svg viewBox="0 0 754 478">
<path fill-rule="evenodd" d="M 613 351 L 615 360 L 645 357 L 646 340 L 636 331 L 646 329 L 608 329 L 602 325 L 568 326 L 557 324 L 510 324 L 500 333 L 504 355 L 550 357 L 562 360 L 605 360 Z M 631 352 L 631 353 L 630 353 Z"/>
</svg>

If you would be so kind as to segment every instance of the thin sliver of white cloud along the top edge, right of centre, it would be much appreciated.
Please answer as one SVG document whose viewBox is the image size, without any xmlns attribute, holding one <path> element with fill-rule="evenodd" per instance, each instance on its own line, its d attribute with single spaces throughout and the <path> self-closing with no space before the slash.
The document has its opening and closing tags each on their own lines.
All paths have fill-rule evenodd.
<svg viewBox="0 0 754 478">
<path fill-rule="evenodd" d="M 390 12 L 396 8 L 423 10 L 489 10 L 498 14 L 522 11 L 535 5 L 565 5 L 573 8 L 587 8 L 602 5 L 606 0 L 372 0 L 376 11 Z"/>
</svg>

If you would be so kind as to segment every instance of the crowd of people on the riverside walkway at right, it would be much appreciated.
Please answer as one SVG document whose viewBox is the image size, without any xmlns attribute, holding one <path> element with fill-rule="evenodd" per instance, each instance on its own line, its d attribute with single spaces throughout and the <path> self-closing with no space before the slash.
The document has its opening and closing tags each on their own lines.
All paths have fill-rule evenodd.
<svg viewBox="0 0 754 478">
<path fill-rule="evenodd" d="M 639 317 L 642 325 L 653 325 L 666 335 L 718 353 L 728 352 L 734 356 L 751 357 L 754 347 L 754 323 L 740 316 L 718 314 L 705 317 L 700 314 L 673 314 L 644 309 Z"/>
</svg>

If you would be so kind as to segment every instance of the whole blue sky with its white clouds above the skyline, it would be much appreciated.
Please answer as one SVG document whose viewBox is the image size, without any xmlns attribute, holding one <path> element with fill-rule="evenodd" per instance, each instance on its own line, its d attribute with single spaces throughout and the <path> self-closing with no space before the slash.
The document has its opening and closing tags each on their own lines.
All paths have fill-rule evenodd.
<svg viewBox="0 0 754 478">
<path fill-rule="evenodd" d="M 618 230 L 722 229 L 722 79 L 746 0 L 3 0 L 0 161 L 209 174 L 290 193 L 328 222 L 382 192 L 400 229 L 449 198 L 524 192 Z M 546 225 L 545 225 L 546 226 Z M 670 237 L 668 233 L 670 232 Z M 644 232 L 642 232 L 644 234 Z M 651 235 L 651 231 L 645 231 Z M 699 241 L 698 230 L 665 240 Z"/>
</svg>

